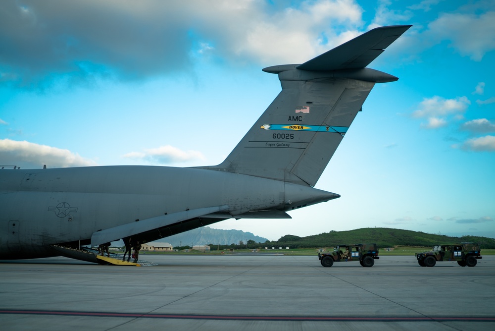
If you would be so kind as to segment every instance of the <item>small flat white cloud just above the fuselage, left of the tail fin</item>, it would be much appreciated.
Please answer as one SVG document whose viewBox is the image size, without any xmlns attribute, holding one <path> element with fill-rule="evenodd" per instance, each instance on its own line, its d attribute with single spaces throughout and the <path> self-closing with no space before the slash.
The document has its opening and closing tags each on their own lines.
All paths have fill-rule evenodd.
<svg viewBox="0 0 495 331">
<path fill-rule="evenodd" d="M 162 165 L 205 160 L 205 157 L 200 152 L 184 152 L 170 145 L 147 149 L 144 152 L 127 153 L 123 157 L 134 160 L 145 160 L 151 163 L 158 163 Z"/>
</svg>

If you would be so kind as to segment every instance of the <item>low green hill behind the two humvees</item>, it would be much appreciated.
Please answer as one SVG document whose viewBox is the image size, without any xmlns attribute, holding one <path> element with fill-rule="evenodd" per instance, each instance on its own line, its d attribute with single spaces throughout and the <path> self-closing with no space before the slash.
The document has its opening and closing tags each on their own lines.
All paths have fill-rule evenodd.
<svg viewBox="0 0 495 331">
<path fill-rule="evenodd" d="M 375 242 L 378 247 L 423 246 L 457 242 L 477 242 L 482 248 L 495 248 L 495 239 L 476 236 L 449 237 L 440 234 L 392 229 L 387 227 L 366 227 L 350 231 L 330 231 L 307 237 L 285 235 L 277 241 L 264 245 L 290 246 L 291 248 L 332 247 L 339 244 Z"/>
</svg>

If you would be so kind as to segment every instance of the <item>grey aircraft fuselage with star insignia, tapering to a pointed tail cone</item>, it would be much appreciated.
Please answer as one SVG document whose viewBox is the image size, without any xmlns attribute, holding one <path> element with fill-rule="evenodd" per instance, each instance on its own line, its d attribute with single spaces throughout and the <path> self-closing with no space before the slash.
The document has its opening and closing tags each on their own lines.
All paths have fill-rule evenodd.
<svg viewBox="0 0 495 331">
<path fill-rule="evenodd" d="M 160 166 L 6 170 L 0 171 L 0 183 L 0 204 L 10 206 L 2 217 L 12 220 L 9 230 L 0 232 L 2 259 L 56 255 L 49 245 L 88 244 L 99 229 L 157 215 L 228 205 L 232 216 L 223 218 L 228 219 L 253 211 L 289 211 L 338 197 L 279 180 Z M 205 223 L 222 221 L 219 217 L 204 218 Z M 175 233 L 162 236 L 171 234 Z M 142 242 L 160 237 L 150 233 Z"/>
</svg>

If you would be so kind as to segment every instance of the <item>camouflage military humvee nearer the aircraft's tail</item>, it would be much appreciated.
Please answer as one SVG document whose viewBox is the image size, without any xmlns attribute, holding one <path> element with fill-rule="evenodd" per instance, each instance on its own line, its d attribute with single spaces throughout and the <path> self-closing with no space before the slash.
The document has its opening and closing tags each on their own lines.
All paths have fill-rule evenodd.
<svg viewBox="0 0 495 331">
<path fill-rule="evenodd" d="M 359 261 L 363 267 L 373 267 L 378 260 L 376 244 L 339 245 L 331 253 L 318 253 L 318 260 L 323 267 L 332 267 L 334 262 Z"/>
</svg>

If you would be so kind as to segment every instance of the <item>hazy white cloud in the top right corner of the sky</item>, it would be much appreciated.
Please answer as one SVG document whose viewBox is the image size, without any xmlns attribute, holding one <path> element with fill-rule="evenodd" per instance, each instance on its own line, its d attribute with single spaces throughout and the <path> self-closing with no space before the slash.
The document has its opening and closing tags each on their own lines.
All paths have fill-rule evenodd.
<svg viewBox="0 0 495 331">
<path fill-rule="evenodd" d="M 428 25 L 438 40 L 449 40 L 460 55 L 481 61 L 495 49 L 495 11 L 474 13 L 445 13 Z"/>
</svg>

